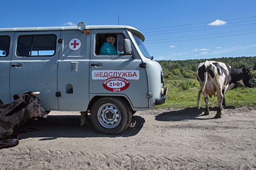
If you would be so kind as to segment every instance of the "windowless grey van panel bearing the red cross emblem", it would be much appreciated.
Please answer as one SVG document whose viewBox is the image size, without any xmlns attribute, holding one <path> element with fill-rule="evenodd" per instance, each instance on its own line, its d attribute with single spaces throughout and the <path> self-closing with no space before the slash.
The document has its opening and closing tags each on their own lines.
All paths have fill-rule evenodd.
<svg viewBox="0 0 256 170">
<path fill-rule="evenodd" d="M 89 102 L 90 34 L 62 31 L 58 92 L 59 110 L 86 111 Z"/>
</svg>

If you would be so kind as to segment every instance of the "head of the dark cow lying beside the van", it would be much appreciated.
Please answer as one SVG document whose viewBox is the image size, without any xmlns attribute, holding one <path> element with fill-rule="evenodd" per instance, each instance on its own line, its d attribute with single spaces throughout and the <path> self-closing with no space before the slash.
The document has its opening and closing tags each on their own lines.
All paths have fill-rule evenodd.
<svg viewBox="0 0 256 170">
<path fill-rule="evenodd" d="M 22 97 L 25 106 L 25 115 L 28 119 L 47 118 L 46 111 L 41 107 L 40 100 L 35 96 L 39 92 L 32 93 L 31 91 L 25 92 L 22 96 L 16 94 L 13 96 L 14 100 Z"/>
</svg>

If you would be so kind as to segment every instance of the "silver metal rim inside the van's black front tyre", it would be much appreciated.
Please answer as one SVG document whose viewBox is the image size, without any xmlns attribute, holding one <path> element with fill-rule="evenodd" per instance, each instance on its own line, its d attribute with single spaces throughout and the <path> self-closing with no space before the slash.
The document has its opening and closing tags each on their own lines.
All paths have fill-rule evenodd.
<svg viewBox="0 0 256 170">
<path fill-rule="evenodd" d="M 105 128 L 115 128 L 121 121 L 119 109 L 112 103 L 103 104 L 98 109 L 98 121 Z"/>
</svg>

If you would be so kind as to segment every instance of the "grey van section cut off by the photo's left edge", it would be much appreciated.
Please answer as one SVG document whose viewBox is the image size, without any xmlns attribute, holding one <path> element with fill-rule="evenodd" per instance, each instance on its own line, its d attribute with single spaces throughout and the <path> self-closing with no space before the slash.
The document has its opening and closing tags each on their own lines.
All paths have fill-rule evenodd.
<svg viewBox="0 0 256 170">
<path fill-rule="evenodd" d="M 5 104 L 10 98 L 10 66 L 14 32 L 0 33 L 0 100 Z"/>
</svg>

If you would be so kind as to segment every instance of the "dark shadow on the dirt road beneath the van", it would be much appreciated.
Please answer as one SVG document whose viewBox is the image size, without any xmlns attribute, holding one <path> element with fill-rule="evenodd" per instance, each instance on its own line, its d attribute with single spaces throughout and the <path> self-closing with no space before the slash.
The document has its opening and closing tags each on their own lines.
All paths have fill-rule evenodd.
<svg viewBox="0 0 256 170">
<path fill-rule="evenodd" d="M 40 140 L 52 140 L 59 137 L 128 137 L 135 136 L 141 130 L 145 120 L 140 116 L 133 116 L 131 125 L 122 134 L 103 135 L 93 126 L 91 119 L 80 126 L 80 116 L 51 116 L 46 119 L 31 120 L 20 129 L 19 139 L 29 137 L 45 137 Z"/>
</svg>

